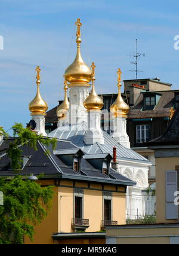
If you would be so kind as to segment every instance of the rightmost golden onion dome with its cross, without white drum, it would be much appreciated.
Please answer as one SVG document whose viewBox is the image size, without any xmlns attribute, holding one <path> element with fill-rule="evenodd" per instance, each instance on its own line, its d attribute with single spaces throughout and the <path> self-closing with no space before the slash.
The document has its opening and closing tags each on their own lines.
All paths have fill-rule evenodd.
<svg viewBox="0 0 179 256">
<path fill-rule="evenodd" d="M 124 102 L 121 96 L 121 69 L 118 69 L 118 97 L 115 102 L 110 106 L 110 111 L 114 117 L 126 117 L 129 112 L 129 106 Z"/>
</svg>

